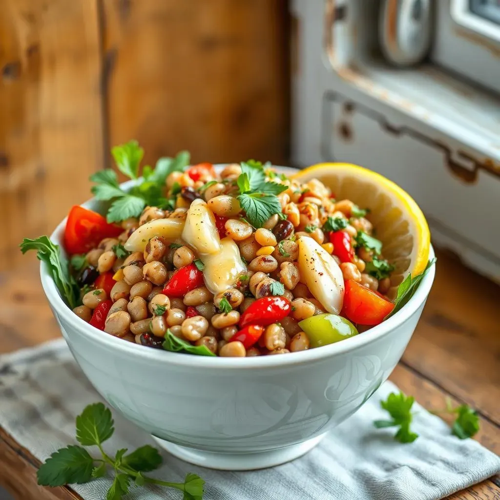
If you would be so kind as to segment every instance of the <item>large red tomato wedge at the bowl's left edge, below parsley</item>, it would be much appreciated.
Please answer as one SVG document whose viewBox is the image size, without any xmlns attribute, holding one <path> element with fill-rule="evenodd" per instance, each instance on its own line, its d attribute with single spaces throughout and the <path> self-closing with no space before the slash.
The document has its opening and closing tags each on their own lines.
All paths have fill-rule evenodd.
<svg viewBox="0 0 500 500">
<path fill-rule="evenodd" d="M 100 213 L 74 205 L 67 216 L 64 228 L 64 248 L 70 254 L 86 253 L 96 247 L 101 239 L 116 237 L 123 229 L 108 224 Z"/>
</svg>

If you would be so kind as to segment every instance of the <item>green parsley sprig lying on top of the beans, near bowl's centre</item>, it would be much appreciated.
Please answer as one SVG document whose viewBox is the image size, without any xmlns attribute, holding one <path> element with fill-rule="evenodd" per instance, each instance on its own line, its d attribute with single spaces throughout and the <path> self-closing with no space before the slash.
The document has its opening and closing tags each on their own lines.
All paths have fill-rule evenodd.
<svg viewBox="0 0 500 500">
<path fill-rule="evenodd" d="M 264 168 L 259 161 L 241 162 L 241 174 L 236 183 L 239 190 L 237 199 L 252 226 L 262 227 L 271 215 L 281 212 L 281 203 L 276 195 L 288 186 L 266 181 Z"/>
</svg>

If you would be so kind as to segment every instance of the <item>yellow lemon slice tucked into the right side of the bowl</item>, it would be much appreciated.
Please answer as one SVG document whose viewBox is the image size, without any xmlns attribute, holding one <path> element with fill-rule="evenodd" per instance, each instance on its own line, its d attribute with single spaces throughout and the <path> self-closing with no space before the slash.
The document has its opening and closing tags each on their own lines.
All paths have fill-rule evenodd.
<svg viewBox="0 0 500 500">
<path fill-rule="evenodd" d="M 373 224 L 375 236 L 383 243 L 383 256 L 394 265 L 391 288 L 411 273 L 420 274 L 429 259 L 430 232 L 427 221 L 413 198 L 397 184 L 379 173 L 350 163 L 318 163 L 291 177 L 299 182 L 318 179 L 328 186 L 337 200 L 350 199 Z"/>
</svg>

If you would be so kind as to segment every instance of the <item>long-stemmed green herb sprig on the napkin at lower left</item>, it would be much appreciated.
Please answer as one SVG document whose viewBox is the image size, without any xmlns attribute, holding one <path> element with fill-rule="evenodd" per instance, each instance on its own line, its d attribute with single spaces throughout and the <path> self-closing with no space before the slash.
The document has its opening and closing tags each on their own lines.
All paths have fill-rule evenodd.
<svg viewBox="0 0 500 500">
<path fill-rule="evenodd" d="M 196 474 L 188 473 L 184 482 L 170 482 L 144 475 L 159 467 L 162 458 L 156 448 L 149 444 L 125 454 L 125 448 L 116 451 L 114 457 L 108 455 L 102 443 L 114 432 L 114 422 L 109 408 L 102 403 L 85 407 L 76 417 L 76 440 L 82 446 L 97 446 L 101 457 L 94 458 L 82 446 L 69 445 L 50 455 L 38 469 L 38 484 L 43 486 L 62 486 L 68 483 L 84 483 L 106 473 L 107 466 L 114 473 L 106 500 L 120 500 L 128 493 L 131 482 L 137 486 L 146 483 L 175 488 L 183 493 L 184 500 L 202 500 L 204 480 Z"/>
</svg>

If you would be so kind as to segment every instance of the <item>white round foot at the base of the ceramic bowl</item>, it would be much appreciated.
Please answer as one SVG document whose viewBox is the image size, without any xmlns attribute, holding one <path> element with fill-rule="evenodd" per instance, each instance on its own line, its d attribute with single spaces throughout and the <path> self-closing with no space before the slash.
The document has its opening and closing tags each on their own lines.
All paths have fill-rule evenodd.
<svg viewBox="0 0 500 500">
<path fill-rule="evenodd" d="M 189 463 L 194 463 L 195 465 L 218 470 L 255 470 L 280 465 L 281 463 L 289 462 L 307 453 L 307 451 L 318 444 L 323 437 L 324 434 L 321 434 L 299 444 L 292 444 L 291 446 L 271 451 L 219 453 L 179 446 L 178 444 L 173 444 L 153 436 L 159 446 L 177 458 Z"/>
</svg>

